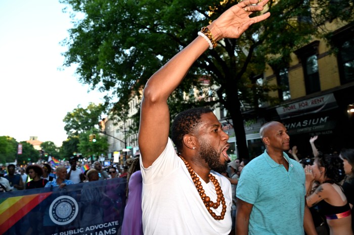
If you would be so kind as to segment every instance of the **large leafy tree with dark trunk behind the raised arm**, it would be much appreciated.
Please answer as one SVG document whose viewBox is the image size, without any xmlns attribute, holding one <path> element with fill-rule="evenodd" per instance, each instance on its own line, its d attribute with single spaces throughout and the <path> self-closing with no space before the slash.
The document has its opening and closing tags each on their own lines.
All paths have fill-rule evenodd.
<svg viewBox="0 0 354 235">
<path fill-rule="evenodd" d="M 107 102 L 113 97 L 119 100 L 114 103 L 117 113 L 128 107 L 131 95 L 155 71 L 196 37 L 198 29 L 236 4 L 228 0 L 61 2 L 72 8 L 73 20 L 75 13 L 84 16 L 75 20 L 70 37 L 63 41 L 68 46 L 64 65 L 77 64 L 80 82 L 109 90 Z M 269 87 L 254 82 L 265 70 L 265 62 L 275 68 L 287 66 L 291 52 L 312 35 L 328 33 L 325 23 L 336 17 L 350 23 L 354 16 L 350 1 L 271 0 L 268 7 L 272 14 L 268 20 L 252 25 L 241 38 L 219 41 L 216 49 L 194 64 L 172 95 L 178 101 L 172 102 L 179 105 L 176 111 L 181 111 L 180 107 L 189 106 L 182 91 L 198 84 L 199 76 L 210 76 L 211 83 L 219 86 L 218 102 L 233 121 L 240 156 L 248 156 L 240 105 L 253 105 L 257 112 L 258 102 L 268 101 L 263 91 Z"/>
</svg>

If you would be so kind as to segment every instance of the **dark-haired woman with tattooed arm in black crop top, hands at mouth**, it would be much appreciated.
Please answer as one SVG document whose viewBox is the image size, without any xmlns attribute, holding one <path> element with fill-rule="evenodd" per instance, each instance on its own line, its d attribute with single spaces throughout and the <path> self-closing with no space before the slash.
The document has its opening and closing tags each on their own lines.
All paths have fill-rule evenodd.
<svg viewBox="0 0 354 235">
<path fill-rule="evenodd" d="M 305 166 L 305 175 L 307 206 L 318 206 L 319 212 L 326 217 L 330 235 L 353 235 L 351 209 L 339 185 L 345 176 L 343 160 L 336 155 L 320 154 L 312 166 Z M 315 180 L 320 185 L 311 193 Z"/>
</svg>

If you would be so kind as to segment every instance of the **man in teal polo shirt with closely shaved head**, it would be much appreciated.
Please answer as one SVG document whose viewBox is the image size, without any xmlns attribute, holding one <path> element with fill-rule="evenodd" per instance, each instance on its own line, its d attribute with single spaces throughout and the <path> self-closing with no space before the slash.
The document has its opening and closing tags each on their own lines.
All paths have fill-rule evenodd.
<svg viewBox="0 0 354 235">
<path fill-rule="evenodd" d="M 305 173 L 290 159 L 290 137 L 280 122 L 260 128 L 263 154 L 242 170 L 237 185 L 237 235 L 317 234 L 305 206 Z"/>
</svg>

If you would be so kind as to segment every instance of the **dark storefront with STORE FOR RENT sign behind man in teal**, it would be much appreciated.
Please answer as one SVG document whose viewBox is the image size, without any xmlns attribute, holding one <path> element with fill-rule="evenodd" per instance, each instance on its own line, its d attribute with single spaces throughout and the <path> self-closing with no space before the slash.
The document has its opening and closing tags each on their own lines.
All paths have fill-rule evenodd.
<svg viewBox="0 0 354 235">
<path fill-rule="evenodd" d="M 354 148 L 354 112 L 348 111 L 348 107 L 354 104 L 353 94 L 354 86 L 339 87 L 323 92 L 320 96 L 263 110 L 263 117 L 260 118 L 245 118 L 250 158 L 264 152 L 259 129 L 268 121 L 279 121 L 285 125 L 290 136 L 290 148 L 297 146 L 299 158 L 313 156 L 309 139 L 314 135 L 319 136 L 315 145 L 323 153 L 331 154 L 342 148 Z M 237 156 L 235 130 L 230 123 L 223 123 L 223 126 L 232 144 L 228 154 L 234 159 Z"/>
</svg>

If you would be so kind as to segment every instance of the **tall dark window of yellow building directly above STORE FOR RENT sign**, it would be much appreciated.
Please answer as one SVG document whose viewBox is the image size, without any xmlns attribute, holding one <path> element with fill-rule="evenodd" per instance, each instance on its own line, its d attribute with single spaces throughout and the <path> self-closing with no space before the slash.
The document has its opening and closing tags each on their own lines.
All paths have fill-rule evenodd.
<svg viewBox="0 0 354 235">
<path fill-rule="evenodd" d="M 302 64 L 306 95 L 321 90 L 317 60 L 319 43 L 320 41 L 313 41 L 294 52 L 297 55 L 299 62 Z"/>
</svg>

